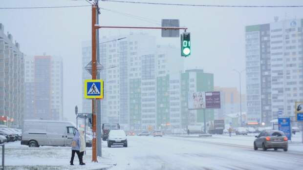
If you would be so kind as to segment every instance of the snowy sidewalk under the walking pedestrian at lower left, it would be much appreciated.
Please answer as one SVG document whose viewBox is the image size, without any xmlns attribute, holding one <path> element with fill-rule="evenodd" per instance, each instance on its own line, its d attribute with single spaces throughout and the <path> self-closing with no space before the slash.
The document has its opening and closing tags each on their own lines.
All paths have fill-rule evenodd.
<svg viewBox="0 0 303 170">
<path fill-rule="evenodd" d="M 70 147 L 29 148 L 20 141 L 10 142 L 5 144 L 5 170 L 107 170 L 112 167 L 111 159 L 105 149 L 102 151 L 98 163 L 91 162 L 91 148 L 87 148 L 83 157 L 86 165 L 80 166 L 75 154 L 75 166 L 70 166 Z"/>
</svg>

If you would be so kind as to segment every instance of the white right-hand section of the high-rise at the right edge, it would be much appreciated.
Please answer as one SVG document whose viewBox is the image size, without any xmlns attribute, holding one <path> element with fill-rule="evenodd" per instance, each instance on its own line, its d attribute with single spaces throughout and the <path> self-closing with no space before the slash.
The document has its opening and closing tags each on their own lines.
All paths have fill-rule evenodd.
<svg viewBox="0 0 303 170">
<path fill-rule="evenodd" d="M 270 23 L 272 115 L 294 116 L 303 100 L 303 19 Z"/>
</svg>

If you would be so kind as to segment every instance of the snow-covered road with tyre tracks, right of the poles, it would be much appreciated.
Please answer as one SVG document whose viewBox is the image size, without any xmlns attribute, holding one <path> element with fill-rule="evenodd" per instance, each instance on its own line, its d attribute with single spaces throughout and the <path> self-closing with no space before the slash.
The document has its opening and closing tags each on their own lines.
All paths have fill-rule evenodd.
<svg viewBox="0 0 303 170">
<path fill-rule="evenodd" d="M 207 138 L 129 136 L 128 148 L 104 149 L 116 164 L 110 170 L 302 170 L 303 152 L 255 151 L 241 142 L 228 144 L 233 138 L 222 138 L 212 142 Z"/>
</svg>

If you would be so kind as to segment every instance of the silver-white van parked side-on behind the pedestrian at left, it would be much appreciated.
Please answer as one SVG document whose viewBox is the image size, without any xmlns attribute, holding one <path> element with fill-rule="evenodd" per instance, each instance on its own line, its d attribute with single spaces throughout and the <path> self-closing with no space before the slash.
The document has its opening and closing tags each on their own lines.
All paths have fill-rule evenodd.
<svg viewBox="0 0 303 170">
<path fill-rule="evenodd" d="M 24 120 L 21 145 L 70 146 L 76 126 L 72 122 Z"/>
</svg>

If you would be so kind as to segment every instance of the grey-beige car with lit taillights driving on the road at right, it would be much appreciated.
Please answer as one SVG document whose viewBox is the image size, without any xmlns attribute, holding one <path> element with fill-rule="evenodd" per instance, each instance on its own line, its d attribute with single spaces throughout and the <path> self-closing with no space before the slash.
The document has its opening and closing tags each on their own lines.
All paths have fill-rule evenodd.
<svg viewBox="0 0 303 170">
<path fill-rule="evenodd" d="M 282 131 L 279 130 L 263 130 L 254 141 L 254 149 L 262 148 L 264 151 L 267 149 L 288 149 L 288 139 Z"/>
</svg>

